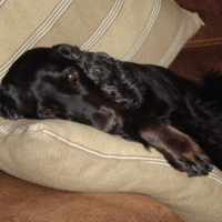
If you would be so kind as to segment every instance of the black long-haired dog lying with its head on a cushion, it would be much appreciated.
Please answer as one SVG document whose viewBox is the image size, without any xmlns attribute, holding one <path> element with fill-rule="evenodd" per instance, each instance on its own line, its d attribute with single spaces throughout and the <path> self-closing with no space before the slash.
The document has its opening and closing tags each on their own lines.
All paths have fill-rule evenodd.
<svg viewBox="0 0 222 222">
<path fill-rule="evenodd" d="M 202 85 L 161 67 L 60 44 L 13 63 L 0 87 L 0 115 L 92 125 L 154 147 L 189 176 L 206 175 L 210 159 L 222 169 L 221 88 L 219 74 Z"/>
</svg>

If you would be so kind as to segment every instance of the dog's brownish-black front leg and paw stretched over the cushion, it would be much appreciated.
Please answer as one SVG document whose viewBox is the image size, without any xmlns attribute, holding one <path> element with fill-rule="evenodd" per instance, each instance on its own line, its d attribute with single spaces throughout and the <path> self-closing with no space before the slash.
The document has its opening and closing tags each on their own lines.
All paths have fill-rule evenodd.
<svg viewBox="0 0 222 222">
<path fill-rule="evenodd" d="M 145 114 L 137 120 L 140 138 L 160 151 L 168 162 L 189 176 L 206 175 L 212 171 L 209 158 L 186 134 L 159 118 Z"/>
</svg>

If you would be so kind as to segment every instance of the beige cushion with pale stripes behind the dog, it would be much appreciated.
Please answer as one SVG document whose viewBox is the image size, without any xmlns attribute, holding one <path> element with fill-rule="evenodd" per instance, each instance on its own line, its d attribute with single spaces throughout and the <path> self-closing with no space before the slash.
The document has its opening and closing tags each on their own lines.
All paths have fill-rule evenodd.
<svg viewBox="0 0 222 222">
<path fill-rule="evenodd" d="M 172 0 L 3 0 L 0 79 L 26 50 L 58 43 L 168 67 L 200 27 Z"/>
</svg>

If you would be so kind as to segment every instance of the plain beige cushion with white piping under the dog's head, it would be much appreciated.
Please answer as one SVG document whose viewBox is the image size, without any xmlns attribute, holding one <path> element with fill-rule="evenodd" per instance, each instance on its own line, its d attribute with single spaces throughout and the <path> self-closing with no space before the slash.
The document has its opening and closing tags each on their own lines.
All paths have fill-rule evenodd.
<svg viewBox="0 0 222 222">
<path fill-rule="evenodd" d="M 0 122 L 0 169 L 11 175 L 68 191 L 143 193 L 186 221 L 221 221 L 218 169 L 188 178 L 154 149 L 69 121 Z"/>
</svg>

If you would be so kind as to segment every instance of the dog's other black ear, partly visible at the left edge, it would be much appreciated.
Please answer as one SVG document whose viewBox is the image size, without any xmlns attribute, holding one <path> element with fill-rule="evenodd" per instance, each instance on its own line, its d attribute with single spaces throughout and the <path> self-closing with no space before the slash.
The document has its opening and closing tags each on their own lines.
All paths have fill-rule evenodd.
<svg viewBox="0 0 222 222">
<path fill-rule="evenodd" d="M 11 120 L 22 118 L 22 115 L 18 112 L 14 99 L 2 85 L 0 85 L 0 117 Z"/>
</svg>

